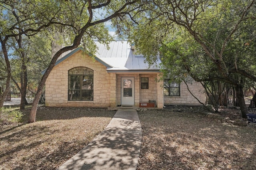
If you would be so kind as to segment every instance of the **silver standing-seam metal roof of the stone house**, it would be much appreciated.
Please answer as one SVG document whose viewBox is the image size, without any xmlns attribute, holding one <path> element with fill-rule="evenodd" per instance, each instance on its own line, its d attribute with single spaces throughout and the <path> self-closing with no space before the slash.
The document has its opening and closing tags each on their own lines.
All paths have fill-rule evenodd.
<svg viewBox="0 0 256 170">
<path fill-rule="evenodd" d="M 149 66 L 143 56 L 134 55 L 134 50 L 132 50 L 128 41 L 111 41 L 109 49 L 98 41 L 95 41 L 95 44 L 98 47 L 95 60 L 106 66 L 108 72 L 160 72 L 160 59 L 158 59 L 156 65 Z M 82 50 L 82 47 L 70 51 L 70 53 L 58 59 L 55 66 L 80 50 Z M 41 73 L 44 74 L 45 72 L 46 69 Z"/>
</svg>

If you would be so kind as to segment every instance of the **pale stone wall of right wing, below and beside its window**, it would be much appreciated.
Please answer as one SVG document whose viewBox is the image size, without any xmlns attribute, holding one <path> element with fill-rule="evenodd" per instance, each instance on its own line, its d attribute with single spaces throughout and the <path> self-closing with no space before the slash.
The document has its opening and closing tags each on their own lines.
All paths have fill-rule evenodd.
<svg viewBox="0 0 256 170">
<path fill-rule="evenodd" d="M 188 88 L 200 102 L 205 103 L 204 88 L 199 82 L 193 84 L 188 83 Z M 184 82 L 180 84 L 180 96 L 164 96 L 164 104 L 166 105 L 201 105 L 194 98 Z"/>
</svg>

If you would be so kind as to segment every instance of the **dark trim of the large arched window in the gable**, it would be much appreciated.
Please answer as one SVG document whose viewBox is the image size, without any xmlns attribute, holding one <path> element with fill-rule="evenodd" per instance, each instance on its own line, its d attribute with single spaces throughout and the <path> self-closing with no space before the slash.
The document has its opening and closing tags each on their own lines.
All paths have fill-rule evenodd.
<svg viewBox="0 0 256 170">
<path fill-rule="evenodd" d="M 75 68 L 78 69 L 78 73 L 71 74 L 71 71 Z M 80 69 L 80 72 L 79 72 L 79 69 Z M 73 73 L 73 71 L 72 71 L 72 73 Z M 70 84 L 71 84 L 70 78 L 72 76 L 77 77 L 77 81 L 79 82 L 79 86 L 80 86 L 79 88 L 74 88 L 74 89 L 70 88 Z M 83 83 L 83 78 L 85 76 L 87 76 L 88 79 L 90 79 L 89 82 L 92 83 L 92 86 L 90 86 L 90 89 L 84 89 L 84 87 L 83 87 L 84 85 L 86 85 Z M 79 91 L 79 96 L 76 96 L 75 100 L 70 100 L 70 98 L 71 98 L 70 92 L 72 93 L 72 91 L 73 92 Z M 86 92 L 86 91 L 88 91 L 91 96 L 83 96 L 83 92 Z M 77 98 L 79 98 L 79 100 Z M 84 98 L 88 98 L 88 99 L 84 99 Z M 94 100 L 94 70 L 92 70 L 88 67 L 83 67 L 83 66 L 74 67 L 74 68 L 71 68 L 70 70 L 68 70 L 68 101 L 93 101 L 93 100 Z"/>
</svg>

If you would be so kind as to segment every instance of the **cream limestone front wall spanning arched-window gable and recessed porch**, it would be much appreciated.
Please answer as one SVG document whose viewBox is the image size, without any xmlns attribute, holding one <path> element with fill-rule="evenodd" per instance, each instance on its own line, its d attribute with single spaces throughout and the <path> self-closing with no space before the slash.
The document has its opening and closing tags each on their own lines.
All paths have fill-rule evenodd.
<svg viewBox="0 0 256 170">
<path fill-rule="evenodd" d="M 68 101 L 68 70 L 87 67 L 94 70 L 93 101 Z M 121 78 L 134 78 L 134 106 L 140 102 L 155 100 L 163 108 L 162 82 L 156 82 L 160 73 L 114 73 L 106 66 L 78 51 L 54 66 L 45 84 L 46 106 L 66 107 L 116 107 L 121 104 Z M 148 89 L 141 89 L 141 77 L 148 77 Z M 159 77 L 158 77 L 159 78 Z"/>
</svg>

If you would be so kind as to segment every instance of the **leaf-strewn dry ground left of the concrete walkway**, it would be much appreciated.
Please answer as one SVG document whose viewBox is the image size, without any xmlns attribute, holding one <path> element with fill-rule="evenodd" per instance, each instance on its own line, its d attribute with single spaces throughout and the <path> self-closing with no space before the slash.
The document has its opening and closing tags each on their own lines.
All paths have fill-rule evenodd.
<svg viewBox="0 0 256 170">
<path fill-rule="evenodd" d="M 27 120 L 29 109 L 24 111 Z M 41 107 L 36 123 L 0 126 L 0 170 L 54 170 L 108 125 L 115 111 Z"/>
</svg>

